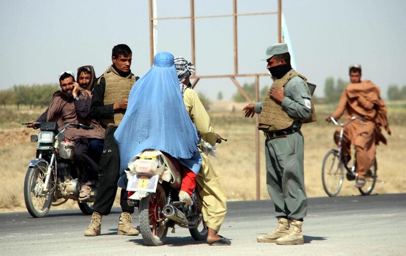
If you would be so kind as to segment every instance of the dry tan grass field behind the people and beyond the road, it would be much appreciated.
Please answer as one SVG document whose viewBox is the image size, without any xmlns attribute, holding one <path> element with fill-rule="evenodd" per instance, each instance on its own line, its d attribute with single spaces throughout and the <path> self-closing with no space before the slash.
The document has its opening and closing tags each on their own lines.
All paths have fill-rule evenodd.
<svg viewBox="0 0 406 256">
<path fill-rule="evenodd" d="M 400 106 L 400 107 L 399 107 Z M 388 146 L 378 147 L 377 159 L 379 164 L 379 179 L 374 193 L 405 193 L 406 173 L 402 167 L 406 165 L 403 157 L 403 147 L 406 145 L 406 111 L 404 103 L 389 105 L 389 119 L 392 136 L 388 136 Z M 215 108 L 213 108 L 214 110 Z M 221 106 L 219 109 L 225 109 Z M 241 106 L 236 106 L 235 112 L 211 113 L 212 123 L 217 133 L 227 138 L 217 150 L 217 158 L 210 157 L 212 165 L 221 177 L 228 200 L 255 199 L 255 119 L 244 118 Z M 326 196 L 321 184 L 321 164 L 324 154 L 332 147 L 333 125 L 327 125 L 322 119 L 325 113 L 332 111 L 331 106 L 317 106 L 320 121 L 303 125 L 305 152 L 304 172 L 305 183 L 309 197 Z M 15 111 L 15 109 L 14 109 Z M 37 110 L 21 110 L 28 113 L 24 118 L 33 118 L 41 113 Z M 1 109 L 0 109 L 1 112 Z M 0 113 L 1 114 L 1 113 Z M 23 198 L 23 182 L 27 169 L 26 164 L 35 156 L 36 143 L 29 142 L 32 130 L 23 129 L 19 122 L 28 120 L 9 120 L 2 122 L 0 127 L 0 212 L 25 211 Z M 260 133 L 260 196 L 268 199 L 265 186 L 265 157 L 264 137 Z M 359 195 L 353 183 L 345 181 L 340 192 L 344 195 Z M 115 206 L 119 206 L 118 196 Z M 76 202 L 58 206 L 58 209 L 78 208 Z"/>
</svg>

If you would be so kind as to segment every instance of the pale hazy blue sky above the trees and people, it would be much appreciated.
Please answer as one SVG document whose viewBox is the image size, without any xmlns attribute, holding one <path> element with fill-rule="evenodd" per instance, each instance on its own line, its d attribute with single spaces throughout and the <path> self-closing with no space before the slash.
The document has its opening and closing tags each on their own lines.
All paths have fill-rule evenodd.
<svg viewBox="0 0 406 256">
<path fill-rule="evenodd" d="M 120 3 L 120 4 L 117 4 Z M 361 63 L 363 78 L 374 81 L 383 97 L 389 84 L 406 84 L 406 1 L 282 1 L 297 71 L 318 85 L 325 78 L 348 79 L 348 66 Z M 189 1 L 157 0 L 158 17 L 188 16 Z M 238 12 L 277 11 L 276 0 L 239 0 Z M 231 0 L 195 0 L 195 15 L 232 13 Z M 232 18 L 195 22 L 198 75 L 233 72 Z M 111 49 L 132 49 L 131 70 L 150 69 L 148 0 L 6 1 L 0 0 L 0 89 L 14 84 L 58 82 L 65 70 L 93 65 L 101 75 L 111 64 Z M 238 18 L 239 73 L 266 73 L 266 48 L 277 42 L 277 16 Z M 158 51 L 190 60 L 190 21 L 158 21 Z M 241 83 L 254 78 L 238 79 Z M 269 86 L 270 78 L 260 79 Z M 224 99 L 236 91 L 229 79 L 202 79 L 197 91 Z"/>
</svg>

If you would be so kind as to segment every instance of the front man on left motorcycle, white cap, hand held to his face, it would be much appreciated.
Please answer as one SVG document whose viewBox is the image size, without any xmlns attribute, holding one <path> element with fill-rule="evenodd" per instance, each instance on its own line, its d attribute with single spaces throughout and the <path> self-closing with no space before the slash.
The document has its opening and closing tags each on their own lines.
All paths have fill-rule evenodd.
<svg viewBox="0 0 406 256">
<path fill-rule="evenodd" d="M 79 171 L 81 190 L 79 199 L 90 196 L 91 186 L 98 175 L 97 159 L 91 156 L 89 144 L 93 140 L 103 139 L 105 130 L 98 122 L 89 118 L 90 95 L 75 82 L 71 71 L 62 72 L 59 77 L 60 90 L 53 94 L 48 109 L 37 119 L 38 122 L 57 122 L 60 129 L 67 122 L 79 122 L 94 127 L 93 130 L 67 127 L 65 138 L 75 143 L 74 156 Z M 33 127 L 33 126 L 31 126 Z"/>
</svg>

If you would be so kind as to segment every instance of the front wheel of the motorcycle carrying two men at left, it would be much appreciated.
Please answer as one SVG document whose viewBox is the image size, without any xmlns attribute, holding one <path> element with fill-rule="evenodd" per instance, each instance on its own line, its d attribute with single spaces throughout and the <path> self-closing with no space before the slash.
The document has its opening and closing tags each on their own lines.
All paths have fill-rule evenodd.
<svg viewBox="0 0 406 256">
<path fill-rule="evenodd" d="M 24 179 L 24 201 L 29 214 L 35 218 L 47 215 L 52 203 L 52 176 L 48 183 L 48 192 L 44 193 L 46 166 L 29 167 Z"/>
</svg>

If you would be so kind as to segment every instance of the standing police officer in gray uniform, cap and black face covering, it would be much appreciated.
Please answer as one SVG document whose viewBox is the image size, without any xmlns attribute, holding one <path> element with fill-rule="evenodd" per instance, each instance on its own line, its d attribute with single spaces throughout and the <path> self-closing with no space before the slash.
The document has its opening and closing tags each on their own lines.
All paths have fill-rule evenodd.
<svg viewBox="0 0 406 256">
<path fill-rule="evenodd" d="M 316 121 L 306 78 L 290 65 L 286 44 L 266 49 L 267 69 L 274 83 L 263 102 L 249 104 L 246 117 L 260 114 L 258 129 L 264 132 L 266 186 L 275 204 L 278 227 L 261 235 L 258 242 L 303 244 L 301 231 L 307 212 L 303 175 L 302 123 Z"/>
</svg>

